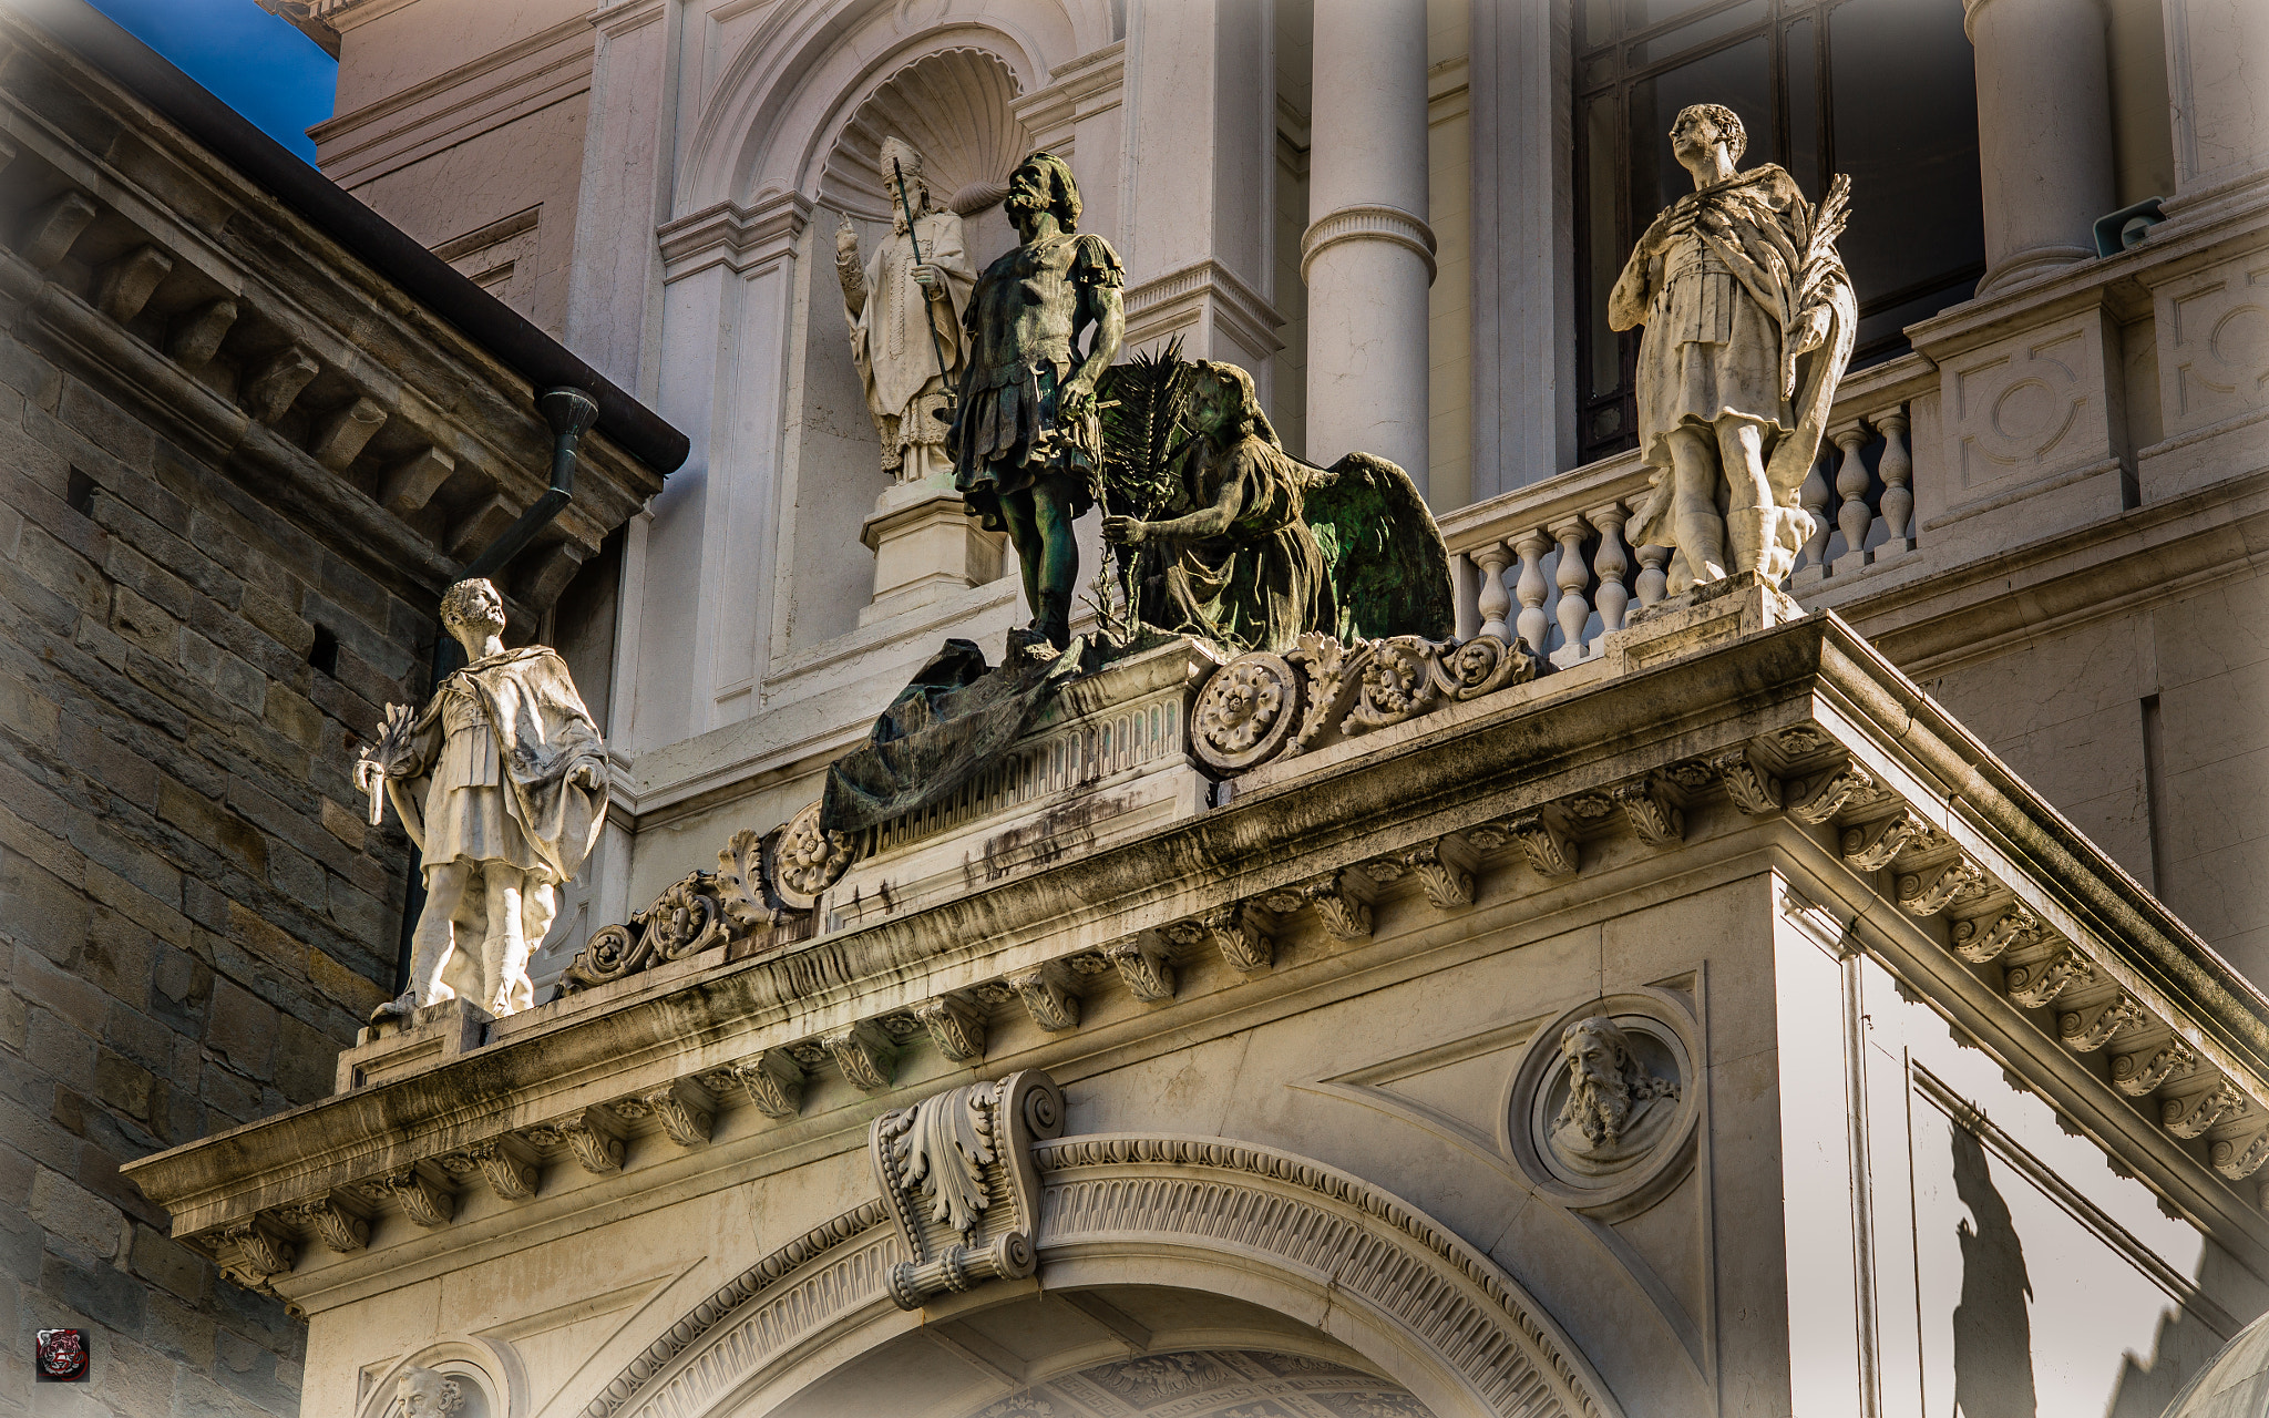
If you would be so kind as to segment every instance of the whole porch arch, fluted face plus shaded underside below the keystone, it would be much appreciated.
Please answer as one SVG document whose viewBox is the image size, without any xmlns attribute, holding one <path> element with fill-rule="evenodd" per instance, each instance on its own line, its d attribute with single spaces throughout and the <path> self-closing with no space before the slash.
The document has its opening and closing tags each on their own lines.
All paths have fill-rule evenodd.
<svg viewBox="0 0 2269 1418">
<path fill-rule="evenodd" d="M 901 1311 L 885 1280 L 905 1259 L 901 1241 L 883 1202 L 864 1202 L 697 1305 L 583 1418 L 803 1418 L 840 1409 L 844 1384 L 862 1389 L 862 1407 L 967 1418 L 1053 1375 L 1198 1350 L 1305 1352 L 1373 1375 L 1427 1413 L 1620 1418 L 1518 1282 L 1359 1178 L 1193 1137 L 1069 1137 L 1037 1146 L 1035 1162 L 1037 1280 Z M 1214 1311 L 1182 1327 L 1132 1318 L 1144 1314 L 1132 1295 L 1157 1291 Z M 1044 1305 L 1096 1323 L 1064 1327 Z M 955 1327 L 978 1339 L 953 1341 Z M 921 1345 L 939 1334 L 976 1354 L 969 1373 L 992 1368 L 992 1391 L 937 1379 Z M 1007 1345 L 985 1334 L 1028 1345 L 1012 1354 L 1023 1373 L 987 1357 Z"/>
</svg>

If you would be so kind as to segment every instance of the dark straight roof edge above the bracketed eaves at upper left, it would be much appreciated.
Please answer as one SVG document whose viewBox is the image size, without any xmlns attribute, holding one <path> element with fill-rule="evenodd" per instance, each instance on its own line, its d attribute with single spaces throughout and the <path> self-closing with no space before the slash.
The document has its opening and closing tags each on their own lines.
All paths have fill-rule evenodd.
<svg viewBox="0 0 2269 1418">
<path fill-rule="evenodd" d="M 402 227 L 252 127 L 243 113 L 213 98 L 211 91 L 86 0 L 7 0 L 7 5 L 52 34 L 57 43 L 107 70 L 175 127 L 290 206 L 311 227 L 347 247 L 411 299 L 454 324 L 474 345 L 526 374 L 535 390 L 572 386 L 592 395 L 599 402 L 599 431 L 626 454 L 663 476 L 685 463 L 692 445 L 663 415 L 529 324 L 501 299 L 452 270 Z"/>
</svg>

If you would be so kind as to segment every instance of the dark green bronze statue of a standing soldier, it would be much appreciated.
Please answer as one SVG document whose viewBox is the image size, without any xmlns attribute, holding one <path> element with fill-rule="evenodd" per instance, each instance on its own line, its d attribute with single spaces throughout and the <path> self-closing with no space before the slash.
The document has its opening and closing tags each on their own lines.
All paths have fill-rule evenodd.
<svg viewBox="0 0 2269 1418">
<path fill-rule="evenodd" d="M 1096 501 L 1096 379 L 1125 334 L 1125 277 L 1107 240 L 1078 234 L 1080 188 L 1064 159 L 1023 159 L 1003 206 L 1023 245 L 985 268 L 969 297 L 969 368 L 946 447 L 969 513 L 1017 542 L 1032 624 L 1010 642 L 1064 649 L 1080 581 L 1071 524 Z"/>
</svg>

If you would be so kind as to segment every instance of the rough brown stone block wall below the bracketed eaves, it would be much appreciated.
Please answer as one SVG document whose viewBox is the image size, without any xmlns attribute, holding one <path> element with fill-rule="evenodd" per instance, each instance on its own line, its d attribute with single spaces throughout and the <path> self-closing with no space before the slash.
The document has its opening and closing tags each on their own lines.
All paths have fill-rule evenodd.
<svg viewBox="0 0 2269 1418">
<path fill-rule="evenodd" d="M 166 1239 L 118 1164 L 324 1096 L 390 989 L 406 849 L 363 826 L 349 765 L 417 683 L 431 606 L 18 343 L 14 315 L 0 1416 L 32 1411 L 32 1332 L 54 1325 L 91 1330 L 95 1379 L 39 1389 L 41 1416 L 297 1413 L 304 1325 Z"/>
</svg>

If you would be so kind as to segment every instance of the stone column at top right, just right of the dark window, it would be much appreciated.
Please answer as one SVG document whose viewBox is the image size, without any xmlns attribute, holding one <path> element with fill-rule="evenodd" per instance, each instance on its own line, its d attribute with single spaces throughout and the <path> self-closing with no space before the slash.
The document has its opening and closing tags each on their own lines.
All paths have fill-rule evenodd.
<svg viewBox="0 0 2269 1418">
<path fill-rule="evenodd" d="M 1985 295 L 2097 254 L 2112 188 L 2103 0 L 1963 0 L 1976 45 Z"/>
</svg>

